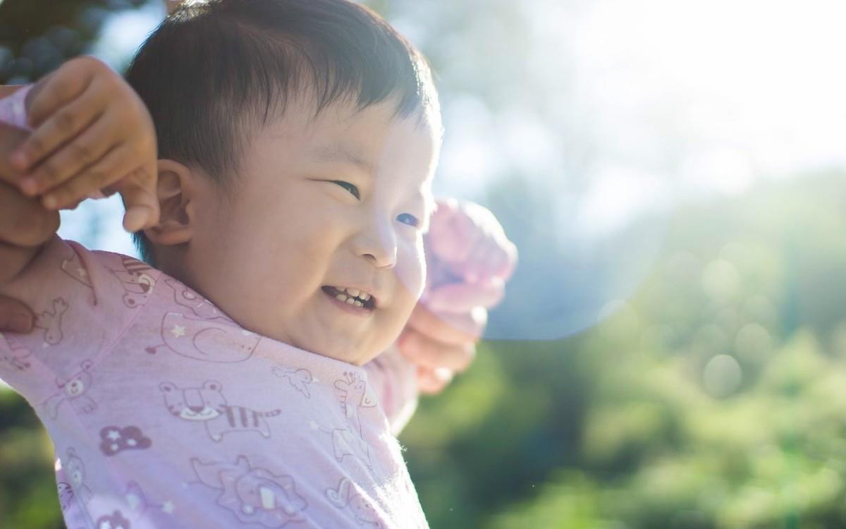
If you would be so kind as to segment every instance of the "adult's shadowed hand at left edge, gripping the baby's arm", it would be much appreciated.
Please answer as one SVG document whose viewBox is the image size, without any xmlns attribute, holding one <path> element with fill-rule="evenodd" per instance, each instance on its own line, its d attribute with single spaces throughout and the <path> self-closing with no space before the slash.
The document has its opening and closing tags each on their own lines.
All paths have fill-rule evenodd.
<svg viewBox="0 0 846 529">
<path fill-rule="evenodd" d="M 29 259 L 33 246 L 41 245 L 58 229 L 58 212 L 48 212 L 36 198 L 23 196 L 16 183 L 20 174 L 9 163 L 11 153 L 26 133 L 0 124 L 0 283 L 7 281 Z M 18 300 L 0 295 L 0 332 L 28 333 L 33 314 Z"/>
</svg>

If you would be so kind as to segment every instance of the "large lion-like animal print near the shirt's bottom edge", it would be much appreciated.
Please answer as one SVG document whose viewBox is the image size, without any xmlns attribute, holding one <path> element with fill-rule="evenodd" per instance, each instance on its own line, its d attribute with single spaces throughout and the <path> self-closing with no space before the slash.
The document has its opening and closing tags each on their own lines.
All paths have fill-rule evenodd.
<svg viewBox="0 0 846 529">
<path fill-rule="evenodd" d="M 244 455 L 239 455 L 234 465 L 204 463 L 194 458 L 191 466 L 201 482 L 222 491 L 217 504 L 230 510 L 241 522 L 275 528 L 305 520 L 302 514 L 308 502 L 297 493 L 293 477 L 250 466 Z"/>
</svg>

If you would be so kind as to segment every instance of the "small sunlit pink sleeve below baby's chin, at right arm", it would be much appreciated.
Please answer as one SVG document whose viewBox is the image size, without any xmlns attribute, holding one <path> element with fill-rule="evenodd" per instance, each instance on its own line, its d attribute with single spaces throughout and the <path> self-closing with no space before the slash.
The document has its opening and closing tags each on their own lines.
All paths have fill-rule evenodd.
<svg viewBox="0 0 846 529">
<path fill-rule="evenodd" d="M 396 345 L 364 365 L 371 387 L 385 411 L 391 432 L 398 435 L 417 409 L 416 368 Z"/>
</svg>

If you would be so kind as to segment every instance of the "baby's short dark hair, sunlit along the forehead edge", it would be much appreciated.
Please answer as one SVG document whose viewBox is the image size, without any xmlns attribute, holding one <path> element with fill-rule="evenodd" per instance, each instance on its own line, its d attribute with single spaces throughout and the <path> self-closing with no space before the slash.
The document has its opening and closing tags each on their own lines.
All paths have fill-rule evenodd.
<svg viewBox="0 0 846 529">
<path fill-rule="evenodd" d="M 426 58 L 369 8 L 348 0 L 187 3 L 153 31 L 126 74 L 156 125 L 158 153 L 232 185 L 250 131 L 309 91 L 315 113 L 349 99 L 396 101 L 395 115 L 435 120 Z M 151 245 L 134 234 L 142 257 Z"/>
</svg>

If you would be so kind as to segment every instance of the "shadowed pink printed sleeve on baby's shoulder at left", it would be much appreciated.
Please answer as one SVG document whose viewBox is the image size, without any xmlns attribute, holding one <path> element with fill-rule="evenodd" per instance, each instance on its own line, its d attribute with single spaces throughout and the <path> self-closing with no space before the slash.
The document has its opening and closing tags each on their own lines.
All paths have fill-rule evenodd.
<svg viewBox="0 0 846 529">
<path fill-rule="evenodd" d="M 31 405 L 88 371 L 143 309 L 158 272 L 126 256 L 53 237 L 0 294 L 36 314 L 28 334 L 0 334 L 0 378 Z"/>
</svg>

